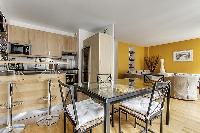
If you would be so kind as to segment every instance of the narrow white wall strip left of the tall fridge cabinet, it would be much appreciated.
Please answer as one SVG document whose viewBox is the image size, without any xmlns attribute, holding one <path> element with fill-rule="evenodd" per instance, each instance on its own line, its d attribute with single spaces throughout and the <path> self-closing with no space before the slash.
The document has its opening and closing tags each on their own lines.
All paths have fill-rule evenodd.
<svg viewBox="0 0 200 133">
<path fill-rule="evenodd" d="M 78 31 L 78 41 L 77 41 L 77 48 L 78 48 L 78 69 L 79 69 L 79 75 L 78 75 L 78 81 L 79 84 L 81 83 L 81 64 L 82 64 L 82 48 L 83 48 L 83 41 L 87 39 L 88 37 L 94 35 L 93 32 L 89 32 L 83 29 L 79 29 Z"/>
</svg>

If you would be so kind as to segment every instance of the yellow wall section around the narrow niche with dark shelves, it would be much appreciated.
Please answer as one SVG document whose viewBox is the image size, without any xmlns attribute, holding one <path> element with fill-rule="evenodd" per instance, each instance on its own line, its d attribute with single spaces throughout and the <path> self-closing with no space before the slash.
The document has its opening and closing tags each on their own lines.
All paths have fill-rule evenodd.
<svg viewBox="0 0 200 133">
<path fill-rule="evenodd" d="M 135 48 L 135 67 L 137 70 L 144 69 L 144 51 L 145 48 L 137 46 L 132 43 L 118 42 L 118 76 L 128 72 L 128 58 L 129 58 L 129 47 Z"/>
</svg>

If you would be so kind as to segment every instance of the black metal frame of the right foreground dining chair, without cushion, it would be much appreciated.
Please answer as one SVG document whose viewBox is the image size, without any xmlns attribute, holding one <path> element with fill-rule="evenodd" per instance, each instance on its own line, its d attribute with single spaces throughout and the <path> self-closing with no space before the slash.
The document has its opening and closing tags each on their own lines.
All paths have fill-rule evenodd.
<svg viewBox="0 0 200 133">
<path fill-rule="evenodd" d="M 139 125 L 139 126 L 143 127 L 145 129 L 145 133 L 147 133 L 148 131 L 153 132 L 152 130 L 148 129 L 148 124 L 152 120 L 157 119 L 157 118 L 160 117 L 160 133 L 162 133 L 163 132 L 162 111 L 163 111 L 163 108 L 164 108 L 165 98 L 167 97 L 167 93 L 168 93 L 168 91 L 170 89 L 170 86 L 171 86 L 171 82 L 170 81 L 155 82 L 155 84 L 153 86 L 153 89 L 152 89 L 152 92 L 151 92 L 151 97 L 150 97 L 150 102 L 149 102 L 149 106 L 148 106 L 148 111 L 147 111 L 147 113 L 145 115 L 141 114 L 141 115 L 144 116 L 145 119 L 142 119 L 141 117 L 139 117 L 138 115 L 136 115 L 135 113 L 133 113 L 133 112 L 136 112 L 136 111 L 131 110 L 129 108 L 125 108 L 125 107 L 120 106 L 119 107 L 119 132 L 122 133 L 122 131 L 121 131 L 121 112 L 123 111 L 123 112 L 126 112 L 126 113 L 134 116 L 135 117 L 135 125 L 134 125 L 134 127 L 136 127 L 136 125 Z M 156 106 L 156 108 L 160 106 L 160 110 L 155 112 L 155 110 L 156 110 L 156 108 L 155 108 L 151 112 L 152 102 L 155 101 L 154 100 L 154 94 L 155 94 L 155 92 L 158 92 L 158 94 L 160 96 L 160 98 L 158 99 L 159 100 L 159 104 Z M 139 113 L 139 112 L 136 112 L 136 113 Z M 137 123 L 137 121 L 136 121 L 137 119 L 145 122 L 145 127 L 142 126 L 140 123 Z M 150 123 L 150 125 L 151 125 L 151 123 Z"/>
</svg>

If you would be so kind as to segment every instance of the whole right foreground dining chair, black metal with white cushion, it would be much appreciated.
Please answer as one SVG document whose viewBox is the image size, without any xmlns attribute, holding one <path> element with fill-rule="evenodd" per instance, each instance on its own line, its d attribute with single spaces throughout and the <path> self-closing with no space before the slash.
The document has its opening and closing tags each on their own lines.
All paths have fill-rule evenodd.
<svg viewBox="0 0 200 133">
<path fill-rule="evenodd" d="M 121 103 L 119 107 L 119 132 L 121 133 L 121 112 L 127 112 L 128 114 L 135 117 L 135 126 L 139 125 L 144 128 L 144 132 L 153 132 L 148 128 L 150 121 L 160 117 L 160 133 L 163 132 L 162 127 L 162 112 L 164 109 L 165 98 L 170 89 L 170 81 L 155 82 L 151 91 L 151 97 L 137 97 Z M 159 99 L 154 100 L 154 95 L 157 92 Z M 137 123 L 137 119 L 145 123 L 145 126 Z"/>
</svg>

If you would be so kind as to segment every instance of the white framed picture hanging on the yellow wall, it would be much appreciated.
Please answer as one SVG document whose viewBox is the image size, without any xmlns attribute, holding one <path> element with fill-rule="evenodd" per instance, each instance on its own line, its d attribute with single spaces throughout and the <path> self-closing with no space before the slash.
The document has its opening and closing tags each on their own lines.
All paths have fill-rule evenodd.
<svg viewBox="0 0 200 133">
<path fill-rule="evenodd" d="M 193 50 L 174 51 L 174 61 L 193 61 Z"/>
</svg>

